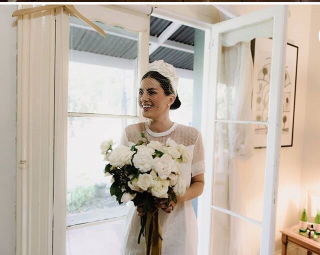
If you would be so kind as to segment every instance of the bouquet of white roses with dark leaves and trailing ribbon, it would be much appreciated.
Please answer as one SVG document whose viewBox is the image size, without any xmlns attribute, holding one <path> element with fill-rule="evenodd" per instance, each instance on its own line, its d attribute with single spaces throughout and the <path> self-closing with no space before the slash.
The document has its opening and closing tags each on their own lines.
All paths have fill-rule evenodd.
<svg viewBox="0 0 320 255">
<path fill-rule="evenodd" d="M 182 163 L 190 161 L 188 149 L 174 140 L 168 139 L 165 144 L 148 141 L 145 134 L 131 147 L 119 145 L 112 148 L 112 140 L 102 141 L 101 154 L 105 165 L 104 174 L 112 175 L 110 194 L 116 196 L 119 204 L 132 200 L 134 205 L 143 204 L 141 228 L 138 235 L 145 236 L 146 254 L 161 253 L 161 226 L 158 210 L 155 206 L 160 198 L 176 202 L 176 196 L 185 193 L 186 184 L 180 176 Z M 154 252 L 156 250 L 156 252 Z"/>
</svg>

